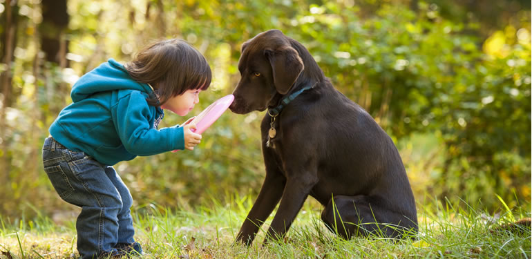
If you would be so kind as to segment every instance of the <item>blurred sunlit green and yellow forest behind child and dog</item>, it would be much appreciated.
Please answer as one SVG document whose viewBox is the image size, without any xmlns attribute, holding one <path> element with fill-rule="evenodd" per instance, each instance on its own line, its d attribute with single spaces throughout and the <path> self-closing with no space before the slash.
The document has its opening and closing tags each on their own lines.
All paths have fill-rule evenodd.
<svg viewBox="0 0 532 259">
<path fill-rule="evenodd" d="M 240 45 L 272 28 L 305 45 L 392 136 L 418 204 L 497 211 L 500 195 L 530 206 L 529 0 L 0 0 L 0 20 L 4 217 L 72 211 L 48 182 L 41 146 L 81 75 L 110 57 L 129 61 L 153 39 L 186 39 L 213 70 L 193 116 L 232 92 Z M 227 111 L 194 151 L 115 168 L 136 205 L 256 195 L 262 117 Z M 185 119 L 167 113 L 161 126 Z"/>
</svg>

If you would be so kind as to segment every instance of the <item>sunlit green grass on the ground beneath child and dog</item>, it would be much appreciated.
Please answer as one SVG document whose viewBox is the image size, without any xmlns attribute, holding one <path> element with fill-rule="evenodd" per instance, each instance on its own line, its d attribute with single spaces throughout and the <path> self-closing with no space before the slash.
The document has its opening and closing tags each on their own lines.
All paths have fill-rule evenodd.
<svg viewBox="0 0 532 259">
<path fill-rule="evenodd" d="M 521 233 L 493 232 L 514 218 L 530 217 L 529 204 L 512 211 L 502 201 L 500 215 L 465 202 L 418 205 L 417 240 L 393 242 L 336 237 L 319 220 L 319 204 L 309 199 L 283 240 L 262 244 L 272 213 L 251 247 L 244 247 L 234 239 L 252 202 L 245 197 L 178 210 L 155 204 L 137 208 L 135 238 L 143 258 L 531 258 L 529 227 Z M 55 224 L 42 215 L 35 220 L 0 218 L 0 258 L 76 258 L 74 220 Z"/>
</svg>

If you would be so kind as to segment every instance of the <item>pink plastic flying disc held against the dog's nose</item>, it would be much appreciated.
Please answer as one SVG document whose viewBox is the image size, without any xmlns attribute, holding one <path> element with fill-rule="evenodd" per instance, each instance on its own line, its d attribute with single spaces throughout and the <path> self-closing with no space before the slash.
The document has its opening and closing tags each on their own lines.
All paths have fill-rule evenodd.
<svg viewBox="0 0 532 259">
<path fill-rule="evenodd" d="M 205 108 L 200 114 L 198 114 L 190 123 L 196 124 L 196 131 L 192 129 L 193 132 L 201 134 L 209 126 L 211 126 L 216 119 L 222 116 L 222 113 L 229 108 L 229 105 L 235 99 L 234 95 L 226 95 L 216 102 L 213 102 L 209 107 Z"/>
</svg>

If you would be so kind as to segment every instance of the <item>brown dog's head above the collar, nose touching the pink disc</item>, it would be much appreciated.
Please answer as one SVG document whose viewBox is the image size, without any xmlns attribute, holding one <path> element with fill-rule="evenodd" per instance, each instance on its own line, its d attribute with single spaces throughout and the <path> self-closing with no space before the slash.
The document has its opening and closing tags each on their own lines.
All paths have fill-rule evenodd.
<svg viewBox="0 0 532 259">
<path fill-rule="evenodd" d="M 242 45 L 240 52 L 240 81 L 229 106 L 234 113 L 264 111 L 277 93 L 288 93 L 304 68 L 291 39 L 280 30 L 256 35 Z"/>
</svg>

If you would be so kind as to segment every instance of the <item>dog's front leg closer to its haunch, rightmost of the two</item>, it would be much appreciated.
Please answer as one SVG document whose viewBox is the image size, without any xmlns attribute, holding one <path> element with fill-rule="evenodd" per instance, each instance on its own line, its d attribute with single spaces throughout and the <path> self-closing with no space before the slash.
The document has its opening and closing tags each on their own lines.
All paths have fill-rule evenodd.
<svg viewBox="0 0 532 259">
<path fill-rule="evenodd" d="M 310 173 L 303 177 L 287 179 L 281 204 L 269 226 L 265 242 L 272 238 L 283 238 L 316 182 L 318 182 L 318 178 L 315 174 Z"/>
</svg>

